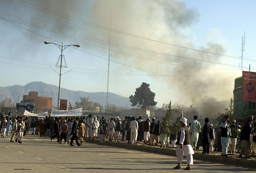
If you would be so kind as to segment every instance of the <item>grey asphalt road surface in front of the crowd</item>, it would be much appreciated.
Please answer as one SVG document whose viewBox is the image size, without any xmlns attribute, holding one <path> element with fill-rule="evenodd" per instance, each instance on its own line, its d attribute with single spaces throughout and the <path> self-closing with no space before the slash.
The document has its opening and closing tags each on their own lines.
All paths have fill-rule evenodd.
<svg viewBox="0 0 256 173">
<path fill-rule="evenodd" d="M 177 165 L 177 159 L 173 156 L 91 143 L 71 147 L 36 135 L 26 135 L 23 144 L 10 143 L 8 136 L 0 138 L 0 155 L 0 172 L 8 173 L 256 172 L 254 168 L 197 160 L 194 160 L 191 171 L 175 170 L 172 168 Z M 184 158 L 182 168 L 186 165 Z"/>
</svg>

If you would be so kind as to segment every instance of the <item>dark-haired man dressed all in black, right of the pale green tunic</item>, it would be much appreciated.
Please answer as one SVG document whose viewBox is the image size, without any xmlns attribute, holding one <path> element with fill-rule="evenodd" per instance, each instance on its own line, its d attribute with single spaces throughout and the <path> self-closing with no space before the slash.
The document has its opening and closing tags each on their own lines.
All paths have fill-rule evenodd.
<svg viewBox="0 0 256 173">
<path fill-rule="evenodd" d="M 204 127 L 203 127 L 203 133 L 202 133 L 202 142 L 203 142 L 203 154 L 209 154 L 209 142 L 210 142 L 210 125 L 209 125 L 209 118 L 204 119 Z"/>
</svg>

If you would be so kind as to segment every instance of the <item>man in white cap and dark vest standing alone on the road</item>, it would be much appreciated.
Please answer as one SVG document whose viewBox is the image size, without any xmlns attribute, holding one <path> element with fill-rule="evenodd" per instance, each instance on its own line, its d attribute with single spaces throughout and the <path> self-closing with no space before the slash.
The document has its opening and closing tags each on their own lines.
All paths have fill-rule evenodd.
<svg viewBox="0 0 256 173">
<path fill-rule="evenodd" d="M 189 140 L 189 132 L 188 132 L 188 126 L 187 126 L 187 119 L 186 118 L 181 118 L 180 119 L 180 134 L 178 137 L 177 141 L 177 150 L 176 150 L 176 155 L 177 155 L 177 160 L 178 160 L 178 165 L 174 167 L 174 169 L 180 169 L 180 164 L 183 160 L 183 157 L 186 156 L 186 160 L 188 163 L 188 166 L 184 170 L 191 170 L 190 165 L 193 165 L 193 148 L 190 145 L 190 140 Z"/>
</svg>

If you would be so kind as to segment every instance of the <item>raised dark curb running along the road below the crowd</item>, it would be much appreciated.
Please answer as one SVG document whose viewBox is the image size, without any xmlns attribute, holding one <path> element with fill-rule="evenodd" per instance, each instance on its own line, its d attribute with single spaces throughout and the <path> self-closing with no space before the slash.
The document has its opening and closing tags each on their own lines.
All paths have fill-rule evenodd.
<svg viewBox="0 0 256 173">
<path fill-rule="evenodd" d="M 87 143 L 96 143 L 99 144 L 100 140 L 98 139 L 87 139 Z M 111 147 L 118 147 L 118 148 L 125 148 L 125 149 L 132 149 L 138 151 L 144 151 L 148 153 L 155 153 L 155 154 L 163 154 L 163 155 L 172 155 L 176 157 L 176 149 L 174 148 L 160 148 L 160 147 L 153 147 L 153 146 L 144 146 L 144 145 L 132 145 L 123 142 L 115 142 L 115 141 L 105 141 L 105 144 Z M 211 155 L 211 154 L 201 154 L 195 153 L 193 158 L 196 160 L 203 160 L 203 161 L 210 161 L 210 162 L 219 162 L 219 163 L 227 163 L 233 165 L 241 165 L 241 166 L 248 166 L 256 168 L 256 161 L 254 160 L 246 160 L 244 158 L 234 158 L 234 157 L 223 157 L 221 155 Z"/>
</svg>

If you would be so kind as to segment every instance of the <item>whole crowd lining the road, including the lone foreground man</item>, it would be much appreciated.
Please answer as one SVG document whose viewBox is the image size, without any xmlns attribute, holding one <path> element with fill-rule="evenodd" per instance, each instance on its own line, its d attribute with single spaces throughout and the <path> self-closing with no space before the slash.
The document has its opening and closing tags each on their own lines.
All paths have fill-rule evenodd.
<svg viewBox="0 0 256 173">
<path fill-rule="evenodd" d="M 9 112 L 11 113 L 11 112 Z M 31 128 L 31 134 L 40 135 L 40 137 L 50 137 L 51 141 L 56 140 L 59 144 L 69 143 L 74 146 L 80 146 L 87 139 L 100 139 L 100 145 L 108 141 L 124 141 L 129 144 L 138 145 L 157 145 L 161 148 L 177 147 L 178 165 L 174 169 L 180 169 L 180 163 L 183 156 L 186 156 L 188 167 L 185 170 L 190 170 L 190 165 L 193 165 L 193 150 L 198 150 L 203 146 L 203 154 L 209 154 L 210 151 L 221 151 L 222 156 L 228 157 L 228 152 L 231 155 L 239 153 L 239 157 L 245 158 L 255 157 L 256 155 L 256 121 L 253 124 L 253 116 L 250 115 L 244 124 L 243 128 L 236 125 L 236 120 L 229 123 L 227 115 L 221 122 L 218 128 L 213 128 L 209 124 L 209 119 L 205 118 L 205 124 L 202 127 L 197 121 L 197 116 L 194 120 L 187 124 L 186 118 L 180 119 L 180 129 L 172 132 L 169 126 L 166 125 L 165 118 L 155 122 L 155 118 L 149 117 L 143 121 L 143 117 L 127 116 L 124 119 L 114 117 L 105 119 L 89 114 L 83 117 L 51 117 L 49 114 L 44 119 L 33 117 L 31 122 L 28 117 L 15 116 L 11 114 L 1 116 L 1 137 L 10 136 L 10 142 L 23 143 L 23 136 L 28 134 Z M 159 144 L 159 145 L 158 145 Z M 213 149 L 214 148 L 214 149 Z M 250 153 L 252 154 L 250 156 Z"/>
</svg>

